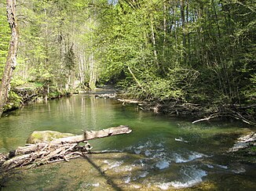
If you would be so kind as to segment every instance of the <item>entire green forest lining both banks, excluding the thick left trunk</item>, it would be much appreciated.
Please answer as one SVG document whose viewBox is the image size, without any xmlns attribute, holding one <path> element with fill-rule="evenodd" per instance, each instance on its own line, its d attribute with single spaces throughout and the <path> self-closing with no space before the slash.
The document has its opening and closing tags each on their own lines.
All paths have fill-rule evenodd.
<svg viewBox="0 0 256 191">
<path fill-rule="evenodd" d="M 196 117 L 255 124 L 253 0 L 19 0 L 15 7 L 19 42 L 5 110 L 24 103 L 20 85 L 48 97 L 115 85 L 162 110 L 182 105 Z M 0 13 L 2 79 L 11 38 L 3 0 Z"/>
</svg>

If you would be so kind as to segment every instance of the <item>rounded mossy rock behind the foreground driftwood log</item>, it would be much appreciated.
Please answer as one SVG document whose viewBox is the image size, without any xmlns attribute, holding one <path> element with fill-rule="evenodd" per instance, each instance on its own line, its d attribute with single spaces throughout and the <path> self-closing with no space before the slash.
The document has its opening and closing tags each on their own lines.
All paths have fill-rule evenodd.
<svg viewBox="0 0 256 191">
<path fill-rule="evenodd" d="M 35 144 L 38 142 L 51 142 L 53 139 L 59 139 L 69 136 L 75 136 L 71 133 L 62 133 L 54 131 L 35 131 L 28 137 L 28 144 Z"/>
</svg>

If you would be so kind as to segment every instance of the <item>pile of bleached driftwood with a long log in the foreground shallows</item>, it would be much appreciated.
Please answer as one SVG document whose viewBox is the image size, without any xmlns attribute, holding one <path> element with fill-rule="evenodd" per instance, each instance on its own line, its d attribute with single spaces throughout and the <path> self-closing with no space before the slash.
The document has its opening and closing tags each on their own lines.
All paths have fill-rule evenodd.
<svg viewBox="0 0 256 191">
<path fill-rule="evenodd" d="M 120 125 L 119 127 L 107 128 L 101 131 L 86 131 L 83 135 L 53 139 L 51 142 L 30 144 L 10 151 L 9 156 L 0 156 L 0 164 L 2 164 L 2 168 L 11 169 L 28 164 L 34 167 L 61 160 L 68 161 L 72 158 L 81 157 L 86 153 L 90 153 L 92 146 L 90 146 L 87 140 L 130 132 L 132 130 L 128 126 Z"/>
</svg>

